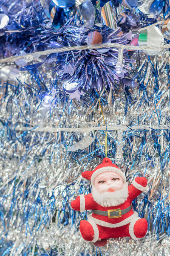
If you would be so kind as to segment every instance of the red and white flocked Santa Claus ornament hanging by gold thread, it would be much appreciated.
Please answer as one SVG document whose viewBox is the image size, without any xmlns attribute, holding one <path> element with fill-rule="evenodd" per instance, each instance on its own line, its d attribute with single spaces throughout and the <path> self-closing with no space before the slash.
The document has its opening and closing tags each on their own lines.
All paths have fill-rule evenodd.
<svg viewBox="0 0 170 256">
<path fill-rule="evenodd" d="M 79 195 L 71 207 L 83 212 L 93 210 L 88 221 L 80 221 L 83 239 L 103 246 L 107 239 L 129 236 L 139 239 L 147 233 L 147 221 L 133 211 L 132 201 L 148 191 L 147 179 L 136 177 L 128 186 L 124 173 L 107 157 L 94 171 L 82 172 L 91 180 L 91 194 Z"/>
</svg>

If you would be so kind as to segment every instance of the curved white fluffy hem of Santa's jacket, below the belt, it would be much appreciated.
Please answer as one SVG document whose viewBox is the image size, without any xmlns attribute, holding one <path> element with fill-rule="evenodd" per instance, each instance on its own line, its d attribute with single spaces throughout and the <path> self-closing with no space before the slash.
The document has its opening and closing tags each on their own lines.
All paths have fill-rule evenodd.
<svg viewBox="0 0 170 256">
<path fill-rule="evenodd" d="M 97 225 L 99 226 L 102 226 L 102 227 L 111 227 L 111 228 L 114 228 L 114 227 L 122 227 L 126 224 L 129 224 L 131 221 L 133 221 L 133 219 L 135 219 L 135 222 L 137 221 L 137 218 L 138 217 L 138 212 L 134 211 L 134 213 L 126 218 L 125 220 L 123 221 L 120 221 L 118 223 L 115 223 L 115 224 L 112 224 L 112 223 L 109 223 L 109 222 L 106 222 L 106 221 L 102 221 L 102 220 L 99 220 L 99 219 L 96 219 L 94 217 L 92 217 L 92 214 L 88 215 L 88 221 L 94 221 L 94 223 L 96 223 Z M 91 223 L 91 222 L 90 222 Z M 130 235 L 131 236 L 131 235 Z"/>
</svg>

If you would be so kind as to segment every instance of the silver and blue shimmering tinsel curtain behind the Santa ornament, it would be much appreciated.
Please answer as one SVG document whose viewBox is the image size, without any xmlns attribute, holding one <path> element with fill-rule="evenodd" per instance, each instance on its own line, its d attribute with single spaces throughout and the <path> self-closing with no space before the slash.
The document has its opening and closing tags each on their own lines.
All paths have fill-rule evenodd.
<svg viewBox="0 0 170 256">
<path fill-rule="evenodd" d="M 143 57 L 146 62 L 145 56 Z M 153 59 L 153 66 L 154 61 L 159 61 L 159 67 L 161 66 L 159 57 Z M 146 71 L 143 69 L 142 73 L 145 74 Z M 47 76 L 49 77 L 50 73 L 47 73 Z M 154 218 L 158 219 L 159 215 L 164 214 L 166 220 L 169 210 L 170 175 L 169 150 L 167 151 L 169 141 L 166 139 L 166 132 L 169 132 L 170 112 L 168 77 L 164 76 L 164 72 L 159 73 L 161 89 L 157 93 L 153 90 L 155 78 L 152 67 L 148 79 L 150 81 L 146 81 L 147 94 L 143 91 L 140 95 L 137 89 L 133 89 L 131 94 L 133 104 L 127 106 L 126 115 L 127 103 L 123 91 L 119 91 L 119 96 L 114 95 L 113 105 L 108 101 L 108 105 L 102 104 L 102 108 L 105 120 L 111 127 L 108 131 L 109 157 L 114 160 L 118 139 L 117 132 L 112 127 L 119 124 L 123 127 L 120 145 L 124 159 L 120 167 L 124 171 L 126 166 L 128 167 L 126 176 L 129 181 L 134 175 L 139 174 L 145 175 L 149 180 L 148 198 L 150 199 L 144 210 L 145 218 L 151 216 L 151 211 Z M 38 88 L 31 76 L 27 77 L 27 84 L 31 84 L 34 89 Z M 8 90 L 5 89 L 5 84 L 4 87 L 2 86 L 0 136 L 3 144 L 0 161 L 2 170 L 0 203 L 3 225 L 0 227 L 0 232 L 4 244 L 9 244 L 7 251 L 4 250 L 2 255 L 9 252 L 10 256 L 20 256 L 26 251 L 29 251 L 27 254 L 29 256 L 36 255 L 36 252 L 38 255 L 43 255 L 43 251 L 48 253 L 51 250 L 56 255 L 69 256 L 169 255 L 170 239 L 165 233 L 159 236 L 159 240 L 157 240 L 158 236 L 151 232 L 139 241 L 129 238 L 111 239 L 108 246 L 103 248 L 96 248 L 82 239 L 79 233 L 79 221 L 84 215 L 79 212 L 74 213 L 70 201 L 79 192 L 90 191 L 89 183 L 82 180 L 80 174 L 84 169 L 94 169 L 101 163 L 99 156 L 104 157 L 105 146 L 102 143 L 105 142 L 105 128 L 102 127 L 102 115 L 97 99 L 94 100 L 92 107 L 91 104 L 85 105 L 83 100 L 72 101 L 72 105 L 68 100 L 63 105 L 61 99 L 66 96 L 61 93 L 60 100 L 54 105 L 59 89 L 50 88 L 49 82 L 46 86 L 51 97 L 48 108 L 44 107 L 41 97 L 31 94 L 34 90 L 28 93 L 28 87 L 22 84 L 18 89 L 10 84 Z M 153 98 L 150 98 L 152 95 Z M 110 99 L 109 97 L 113 97 L 111 91 L 108 95 L 104 90 L 100 93 L 101 101 Z M 83 99 L 86 102 L 91 101 L 88 93 Z M 146 106 L 146 102 L 150 102 L 149 106 Z M 158 110 L 155 111 L 156 107 L 161 111 L 160 120 Z M 123 121 L 120 123 L 120 120 Z M 26 124 L 29 125 L 28 128 Z M 100 125 L 98 129 L 94 128 L 96 124 Z M 23 125 L 26 131 L 23 131 Z M 39 131 L 34 129 L 37 126 L 41 127 L 37 128 Z M 84 126 L 89 128 L 85 130 Z M 70 131 L 66 130 L 68 127 Z M 146 127 L 147 129 L 143 130 Z M 30 128 L 32 130 L 28 131 Z M 89 129 L 94 131 L 89 132 Z M 69 153 L 67 148 L 85 135 L 94 136 L 95 143 L 83 151 L 78 151 L 79 153 Z M 154 148 L 154 139 L 159 145 L 160 153 Z M 130 141 L 130 144 L 127 141 Z M 148 160 L 147 152 L 150 155 Z M 161 160 L 162 156 L 163 160 Z M 164 167 L 161 166 L 163 161 Z M 158 201 L 160 194 L 163 204 L 159 204 Z M 141 214 L 144 209 L 143 199 L 144 194 L 138 198 L 137 209 Z M 157 220 L 155 224 L 152 224 L 153 221 L 150 222 L 153 232 L 156 232 L 158 225 L 161 224 L 163 227 L 162 221 Z M 161 230 L 160 226 L 159 230 Z"/>
</svg>

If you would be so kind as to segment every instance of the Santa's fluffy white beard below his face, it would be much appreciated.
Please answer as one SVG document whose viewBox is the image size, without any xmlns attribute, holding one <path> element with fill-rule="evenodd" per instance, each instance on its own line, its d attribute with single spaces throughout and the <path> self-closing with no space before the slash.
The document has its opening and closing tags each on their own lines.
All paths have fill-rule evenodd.
<svg viewBox="0 0 170 256">
<path fill-rule="evenodd" d="M 123 183 L 123 188 L 114 192 L 99 192 L 93 185 L 91 194 L 94 201 L 103 207 L 117 206 L 123 204 L 127 200 L 128 183 Z"/>
</svg>

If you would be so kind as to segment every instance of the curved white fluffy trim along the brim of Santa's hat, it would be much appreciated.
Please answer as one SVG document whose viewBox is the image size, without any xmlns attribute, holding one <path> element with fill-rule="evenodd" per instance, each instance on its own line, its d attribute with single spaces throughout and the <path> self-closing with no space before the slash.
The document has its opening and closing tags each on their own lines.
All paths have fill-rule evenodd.
<svg viewBox="0 0 170 256">
<path fill-rule="evenodd" d="M 102 167 L 100 169 L 97 169 L 92 175 L 91 175 L 91 184 L 94 185 L 94 180 L 102 172 L 116 172 L 120 177 L 122 178 L 123 182 L 126 182 L 126 176 L 125 174 L 118 168 L 108 166 L 108 167 Z"/>
</svg>

